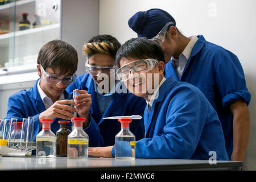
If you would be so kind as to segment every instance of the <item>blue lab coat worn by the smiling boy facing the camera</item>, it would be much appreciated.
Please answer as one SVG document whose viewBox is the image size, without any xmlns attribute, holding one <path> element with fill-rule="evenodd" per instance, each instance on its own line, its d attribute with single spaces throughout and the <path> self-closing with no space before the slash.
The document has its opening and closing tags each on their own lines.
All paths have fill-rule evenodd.
<svg viewBox="0 0 256 182">
<path fill-rule="evenodd" d="M 144 110 L 144 126 L 146 137 L 135 142 L 136 158 L 208 160 L 215 151 L 217 160 L 229 160 L 218 115 L 191 84 L 167 78 L 150 113 Z"/>
</svg>

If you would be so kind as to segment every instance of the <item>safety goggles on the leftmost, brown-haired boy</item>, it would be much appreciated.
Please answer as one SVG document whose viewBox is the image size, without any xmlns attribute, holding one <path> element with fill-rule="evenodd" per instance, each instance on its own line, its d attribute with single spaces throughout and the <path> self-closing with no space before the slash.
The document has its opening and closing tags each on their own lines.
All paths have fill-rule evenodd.
<svg viewBox="0 0 256 182">
<path fill-rule="evenodd" d="M 73 75 L 57 75 L 55 73 L 48 73 L 44 70 L 42 65 L 40 65 L 40 69 L 43 79 L 46 80 L 49 84 L 57 85 L 62 82 L 64 86 L 68 86 L 76 81 L 75 73 Z"/>
</svg>

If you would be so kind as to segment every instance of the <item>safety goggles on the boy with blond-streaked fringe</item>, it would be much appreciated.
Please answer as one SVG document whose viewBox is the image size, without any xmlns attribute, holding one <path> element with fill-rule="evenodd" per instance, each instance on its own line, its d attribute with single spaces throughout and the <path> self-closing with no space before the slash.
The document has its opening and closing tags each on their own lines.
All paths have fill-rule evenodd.
<svg viewBox="0 0 256 182">
<path fill-rule="evenodd" d="M 113 72 L 117 71 L 117 67 L 115 65 L 109 66 L 100 66 L 100 65 L 92 65 L 88 64 L 88 59 L 85 61 L 85 69 L 92 76 L 98 76 L 100 73 L 110 73 L 113 69 Z"/>
</svg>

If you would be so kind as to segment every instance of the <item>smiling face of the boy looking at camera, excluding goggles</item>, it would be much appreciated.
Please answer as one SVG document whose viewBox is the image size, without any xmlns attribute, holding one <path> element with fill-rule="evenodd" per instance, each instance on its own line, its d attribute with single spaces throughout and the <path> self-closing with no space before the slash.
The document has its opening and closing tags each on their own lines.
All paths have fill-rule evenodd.
<svg viewBox="0 0 256 182">
<path fill-rule="evenodd" d="M 120 59 L 120 67 L 122 68 L 123 65 L 132 63 L 133 61 L 141 60 L 138 58 L 133 57 L 122 57 Z M 148 96 L 152 95 L 153 91 L 160 83 L 164 72 L 164 63 L 163 61 L 159 61 L 156 63 L 154 68 L 150 71 L 135 74 L 133 71 L 130 72 L 130 77 L 128 80 L 124 81 L 125 86 L 129 91 L 135 96 L 143 97 L 145 100 L 148 101 Z"/>
</svg>

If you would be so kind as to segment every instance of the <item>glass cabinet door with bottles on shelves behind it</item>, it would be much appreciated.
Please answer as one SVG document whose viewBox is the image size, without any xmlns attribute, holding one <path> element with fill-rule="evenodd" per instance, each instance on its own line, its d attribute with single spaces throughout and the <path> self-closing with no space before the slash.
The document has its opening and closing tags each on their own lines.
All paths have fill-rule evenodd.
<svg viewBox="0 0 256 182">
<path fill-rule="evenodd" d="M 35 72 L 40 48 L 60 39 L 61 0 L 0 2 L 0 78 Z"/>
</svg>

